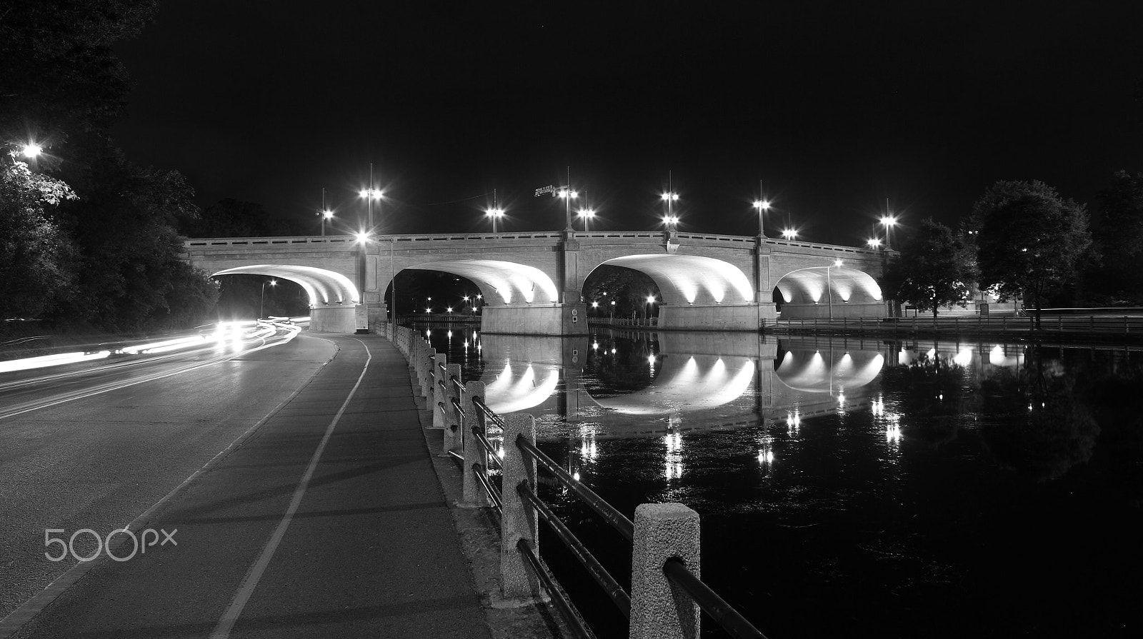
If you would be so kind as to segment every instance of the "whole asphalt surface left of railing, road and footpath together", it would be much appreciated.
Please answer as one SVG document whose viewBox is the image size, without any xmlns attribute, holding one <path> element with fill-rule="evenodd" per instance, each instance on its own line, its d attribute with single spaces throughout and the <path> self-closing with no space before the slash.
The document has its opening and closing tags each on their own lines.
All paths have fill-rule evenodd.
<svg viewBox="0 0 1143 639">
<path fill-rule="evenodd" d="M 3 383 L 0 637 L 488 634 L 387 342 Z"/>
</svg>

